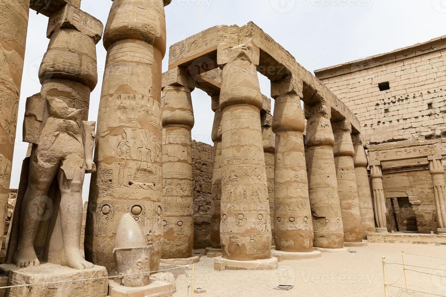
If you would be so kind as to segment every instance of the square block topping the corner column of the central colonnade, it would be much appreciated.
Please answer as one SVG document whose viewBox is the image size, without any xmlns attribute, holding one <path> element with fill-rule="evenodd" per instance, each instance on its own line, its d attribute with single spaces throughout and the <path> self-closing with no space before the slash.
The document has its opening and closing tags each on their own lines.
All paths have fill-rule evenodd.
<svg viewBox="0 0 446 297">
<path fill-rule="evenodd" d="M 217 64 L 219 67 L 235 60 L 250 61 L 258 66 L 260 63 L 260 49 L 254 44 L 241 44 L 231 47 L 227 43 L 220 43 L 217 47 Z"/>
</svg>

